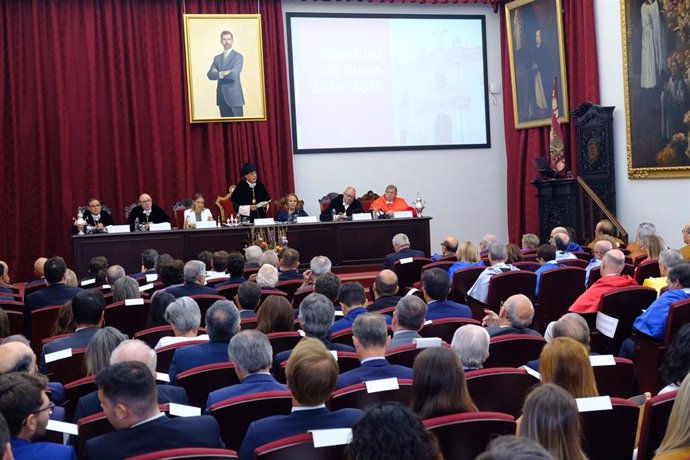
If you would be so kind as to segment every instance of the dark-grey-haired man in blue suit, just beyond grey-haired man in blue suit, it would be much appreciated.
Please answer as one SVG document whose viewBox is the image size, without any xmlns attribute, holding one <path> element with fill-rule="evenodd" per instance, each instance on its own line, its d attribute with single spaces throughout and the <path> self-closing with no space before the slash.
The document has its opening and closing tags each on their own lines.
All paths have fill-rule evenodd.
<svg viewBox="0 0 690 460">
<path fill-rule="evenodd" d="M 206 312 L 208 343 L 189 345 L 175 350 L 170 369 L 170 381 L 175 383 L 177 374 L 204 364 L 224 363 L 232 336 L 240 331 L 240 312 L 233 302 L 218 300 Z"/>
</svg>

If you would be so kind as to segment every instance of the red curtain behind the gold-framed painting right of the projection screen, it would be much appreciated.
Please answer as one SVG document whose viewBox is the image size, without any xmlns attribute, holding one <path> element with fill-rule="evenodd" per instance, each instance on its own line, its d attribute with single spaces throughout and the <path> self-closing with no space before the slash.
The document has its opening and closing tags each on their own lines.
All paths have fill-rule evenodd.
<svg viewBox="0 0 690 460">
<path fill-rule="evenodd" d="M 568 74 L 568 104 L 570 110 L 583 102 L 599 103 L 599 68 L 597 65 L 596 35 L 594 31 L 594 4 L 592 0 L 562 0 L 566 70 Z M 539 205 L 532 181 L 536 168 L 532 161 L 547 156 L 549 127 L 515 129 L 513 100 L 510 92 L 510 59 L 505 25 L 505 9 L 501 9 L 501 54 L 503 67 L 503 113 L 505 125 L 508 236 L 520 242 L 524 233 L 539 234 Z M 550 101 L 550 99 L 549 99 Z M 563 108 L 560 108 L 561 112 Z M 569 170 L 577 175 L 575 126 L 563 126 L 563 143 L 569 153 Z M 563 222 L 563 225 L 571 225 Z"/>
</svg>

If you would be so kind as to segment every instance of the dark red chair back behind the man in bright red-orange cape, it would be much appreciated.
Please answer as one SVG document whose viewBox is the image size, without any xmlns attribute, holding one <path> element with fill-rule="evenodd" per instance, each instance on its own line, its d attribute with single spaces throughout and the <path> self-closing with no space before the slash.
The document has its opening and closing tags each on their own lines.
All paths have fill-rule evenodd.
<svg viewBox="0 0 690 460">
<path fill-rule="evenodd" d="M 592 350 L 617 355 L 623 340 L 630 337 L 635 319 L 655 300 L 656 290 L 643 286 L 618 288 L 604 294 L 599 311 L 616 318 L 618 326 L 613 337 L 607 337 L 595 330 L 592 334 Z"/>
</svg>

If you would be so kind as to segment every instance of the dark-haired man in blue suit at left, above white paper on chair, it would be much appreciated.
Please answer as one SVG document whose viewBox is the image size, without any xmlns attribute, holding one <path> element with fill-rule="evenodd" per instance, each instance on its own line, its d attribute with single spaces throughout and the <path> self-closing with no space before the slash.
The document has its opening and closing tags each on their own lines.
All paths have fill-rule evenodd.
<svg viewBox="0 0 690 460">
<path fill-rule="evenodd" d="M 72 315 L 76 323 L 74 333 L 43 345 L 41 351 L 41 373 L 48 373 L 46 355 L 68 348 L 86 348 L 91 337 L 103 325 L 105 298 L 96 289 L 79 291 L 72 299 Z"/>
</svg>

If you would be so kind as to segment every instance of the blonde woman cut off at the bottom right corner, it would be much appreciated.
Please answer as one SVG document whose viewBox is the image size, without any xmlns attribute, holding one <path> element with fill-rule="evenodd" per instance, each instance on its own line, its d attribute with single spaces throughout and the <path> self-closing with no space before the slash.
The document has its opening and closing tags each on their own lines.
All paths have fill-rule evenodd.
<svg viewBox="0 0 690 460">
<path fill-rule="evenodd" d="M 671 416 L 666 425 L 666 434 L 656 451 L 654 460 L 681 460 L 690 458 L 690 374 L 680 385 Z"/>
</svg>

